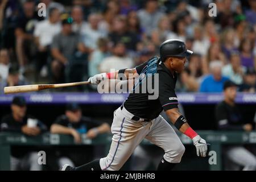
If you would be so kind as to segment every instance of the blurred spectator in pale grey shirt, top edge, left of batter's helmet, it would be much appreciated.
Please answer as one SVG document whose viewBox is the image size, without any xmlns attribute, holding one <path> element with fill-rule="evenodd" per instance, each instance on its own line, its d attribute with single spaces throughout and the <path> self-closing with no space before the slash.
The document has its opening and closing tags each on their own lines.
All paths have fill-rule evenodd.
<svg viewBox="0 0 256 182">
<path fill-rule="evenodd" d="M 146 1 L 144 9 L 138 11 L 138 17 L 142 28 L 145 30 L 147 36 L 150 36 L 152 31 L 158 27 L 159 19 L 164 14 L 158 9 L 158 1 Z"/>
</svg>

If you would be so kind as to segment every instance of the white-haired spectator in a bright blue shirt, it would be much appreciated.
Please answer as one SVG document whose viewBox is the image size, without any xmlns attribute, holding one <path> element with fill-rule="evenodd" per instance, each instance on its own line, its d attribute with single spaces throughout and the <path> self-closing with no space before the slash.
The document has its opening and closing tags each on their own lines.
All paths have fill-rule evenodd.
<svg viewBox="0 0 256 182">
<path fill-rule="evenodd" d="M 212 61 L 209 67 L 211 74 L 203 78 L 200 92 L 222 92 L 224 82 L 229 79 L 221 74 L 221 61 Z"/>
</svg>

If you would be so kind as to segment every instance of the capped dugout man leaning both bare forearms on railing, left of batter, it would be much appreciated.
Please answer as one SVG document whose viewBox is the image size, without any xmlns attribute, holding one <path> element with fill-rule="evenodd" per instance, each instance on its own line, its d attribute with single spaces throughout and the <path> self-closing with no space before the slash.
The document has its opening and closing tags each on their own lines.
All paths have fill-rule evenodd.
<svg viewBox="0 0 256 182">
<path fill-rule="evenodd" d="M 84 117 L 81 107 L 76 103 L 67 104 L 65 114 L 60 115 L 51 126 L 51 133 L 72 135 L 76 143 L 81 143 L 81 134 L 86 134 L 87 138 L 93 139 L 97 137 L 98 134 L 109 132 L 110 126 L 108 123 L 102 123 L 94 121 L 92 118 Z M 85 152 L 86 151 L 83 151 L 82 154 L 73 152 L 73 156 L 70 154 L 71 152 L 61 154 L 57 163 L 59 167 L 67 163 L 74 166 L 73 160 L 77 159 L 77 155 L 80 156 L 78 159 L 80 161 L 82 158 L 86 158 Z"/>
</svg>

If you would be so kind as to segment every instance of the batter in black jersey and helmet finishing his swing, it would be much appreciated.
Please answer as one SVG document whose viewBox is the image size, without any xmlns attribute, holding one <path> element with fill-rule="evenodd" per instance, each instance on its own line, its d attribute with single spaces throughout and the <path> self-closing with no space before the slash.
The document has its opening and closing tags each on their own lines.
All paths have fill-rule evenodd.
<svg viewBox="0 0 256 182">
<path fill-rule="evenodd" d="M 93 162 L 79 167 L 71 167 L 65 164 L 62 171 L 113 171 L 119 170 L 133 151 L 144 138 L 163 148 L 165 154 L 159 162 L 158 170 L 171 170 L 176 163 L 180 163 L 185 147 L 181 143 L 174 129 L 159 115 L 166 111 L 170 121 L 183 134 L 192 139 L 196 147 L 197 156 L 205 157 L 207 143 L 189 125 L 183 115 L 179 113 L 179 104 L 175 94 L 176 73 L 184 69 L 186 57 L 193 52 L 186 49 L 181 40 L 170 39 L 160 46 L 160 57 L 154 56 L 145 63 L 131 69 L 121 69 L 113 73 L 101 73 L 89 78 L 91 84 L 99 84 L 106 79 L 120 79 L 125 75 L 126 79 L 133 79 L 139 75 L 138 84 L 142 87 L 146 81 L 145 76 L 154 78 L 158 74 L 159 96 L 155 100 L 149 100 L 150 93 L 130 93 L 123 104 L 114 111 L 112 123 L 112 144 L 109 154 L 105 158 L 96 159 Z"/>
</svg>

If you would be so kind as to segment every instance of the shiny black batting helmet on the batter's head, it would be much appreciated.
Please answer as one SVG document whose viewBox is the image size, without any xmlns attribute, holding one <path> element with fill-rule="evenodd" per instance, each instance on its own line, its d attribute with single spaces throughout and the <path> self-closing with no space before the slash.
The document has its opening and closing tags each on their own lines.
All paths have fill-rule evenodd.
<svg viewBox="0 0 256 182">
<path fill-rule="evenodd" d="M 192 55 L 193 51 L 185 47 L 185 43 L 179 39 L 169 39 L 160 45 L 160 57 L 164 61 L 169 56 L 187 57 Z"/>
</svg>

